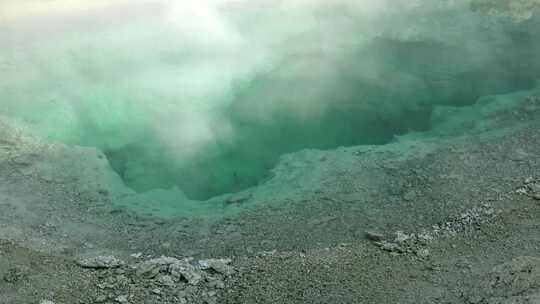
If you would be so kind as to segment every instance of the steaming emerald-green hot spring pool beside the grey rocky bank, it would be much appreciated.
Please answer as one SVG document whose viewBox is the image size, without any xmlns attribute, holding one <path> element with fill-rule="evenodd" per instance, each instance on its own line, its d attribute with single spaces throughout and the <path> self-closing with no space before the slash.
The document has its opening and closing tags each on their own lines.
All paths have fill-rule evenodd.
<svg viewBox="0 0 540 304">
<path fill-rule="evenodd" d="M 220 10 L 226 27 L 190 20 L 196 35 L 156 16 L 95 29 L 66 19 L 47 39 L 8 24 L 0 113 L 100 149 L 138 192 L 205 200 L 257 185 L 285 153 L 388 143 L 429 130 L 436 106 L 532 88 L 539 18 L 456 3 L 248 5 Z"/>
</svg>

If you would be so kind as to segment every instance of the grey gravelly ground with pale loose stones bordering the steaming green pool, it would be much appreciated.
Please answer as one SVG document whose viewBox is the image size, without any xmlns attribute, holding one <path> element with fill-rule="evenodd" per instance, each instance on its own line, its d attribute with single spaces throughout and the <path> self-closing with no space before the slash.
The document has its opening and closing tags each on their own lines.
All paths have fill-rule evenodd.
<svg viewBox="0 0 540 304">
<path fill-rule="evenodd" d="M 0 303 L 540 303 L 539 96 L 285 156 L 211 219 L 118 206 L 99 153 L 5 122 Z"/>
</svg>

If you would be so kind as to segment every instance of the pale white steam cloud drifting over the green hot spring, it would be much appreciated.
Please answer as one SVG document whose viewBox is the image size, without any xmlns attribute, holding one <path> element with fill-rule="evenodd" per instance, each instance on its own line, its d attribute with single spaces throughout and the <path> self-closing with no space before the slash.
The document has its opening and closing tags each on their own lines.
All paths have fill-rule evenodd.
<svg viewBox="0 0 540 304">
<path fill-rule="evenodd" d="M 189 163 L 203 150 L 214 153 L 208 147 L 237 140 L 223 112 L 254 79 L 265 83 L 234 109 L 263 124 L 272 124 L 279 113 L 298 120 L 322 116 L 351 78 L 367 84 L 387 80 L 377 86 L 389 95 L 390 86 L 404 92 L 425 88 L 417 76 L 381 71 L 387 63 L 377 52 L 363 52 L 378 37 L 441 41 L 467 54 L 451 69 L 482 66 L 490 56 L 477 39 L 483 27 L 468 5 L 468 0 L 3 0 L 0 114 L 53 140 L 103 150 L 157 139 L 166 151 L 154 151 L 156 158 L 167 153 Z M 408 106 L 400 104 L 401 96 L 364 101 L 351 92 L 355 106 L 369 111 Z"/>
</svg>

